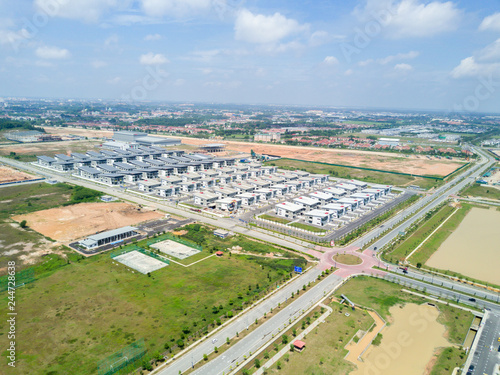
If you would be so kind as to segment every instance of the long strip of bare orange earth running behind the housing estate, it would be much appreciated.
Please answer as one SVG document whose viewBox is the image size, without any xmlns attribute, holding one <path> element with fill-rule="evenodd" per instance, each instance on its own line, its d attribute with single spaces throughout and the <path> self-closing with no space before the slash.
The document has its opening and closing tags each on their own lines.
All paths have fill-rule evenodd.
<svg viewBox="0 0 500 375">
<path fill-rule="evenodd" d="M 182 142 L 187 144 L 198 145 L 208 142 L 206 139 L 178 138 L 181 138 Z M 429 160 L 418 155 L 405 157 L 397 154 L 388 154 L 387 152 L 334 150 L 233 141 L 223 141 L 222 143 L 226 145 L 227 150 L 237 150 L 243 153 L 250 153 L 253 150 L 257 154 L 279 155 L 283 158 L 352 165 L 420 175 L 445 176 L 463 164 L 456 160 Z"/>
</svg>

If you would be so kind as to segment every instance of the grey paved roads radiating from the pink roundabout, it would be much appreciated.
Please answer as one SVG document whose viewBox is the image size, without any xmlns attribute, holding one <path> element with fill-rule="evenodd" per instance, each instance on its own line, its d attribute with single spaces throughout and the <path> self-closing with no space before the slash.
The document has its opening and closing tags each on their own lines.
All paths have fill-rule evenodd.
<svg viewBox="0 0 500 375">
<path fill-rule="evenodd" d="M 489 168 L 494 162 L 490 160 L 490 157 L 486 155 L 483 151 L 477 150 L 477 152 L 481 155 L 483 155 L 482 160 L 478 165 L 474 166 L 470 170 L 460 174 L 458 177 L 456 177 L 454 180 L 451 182 L 441 186 L 439 189 L 437 189 L 432 195 L 429 195 L 419 202 L 417 202 L 415 205 L 412 205 L 410 208 L 402 211 L 400 214 L 398 214 L 396 217 L 392 218 L 387 224 L 385 228 L 376 228 L 375 230 L 371 231 L 370 233 L 366 234 L 365 236 L 361 237 L 354 243 L 354 247 L 360 247 L 363 244 L 369 242 L 370 240 L 378 237 L 379 235 L 382 234 L 383 231 L 386 230 L 387 227 L 393 228 L 389 233 L 387 233 L 385 236 L 383 236 L 381 239 L 377 240 L 372 246 L 371 249 L 376 247 L 377 249 L 380 249 L 382 246 L 385 246 L 387 243 L 389 243 L 392 239 L 394 239 L 401 230 L 405 230 L 408 228 L 409 225 L 411 225 L 413 222 L 418 220 L 420 217 L 425 215 L 427 212 L 432 210 L 434 207 L 439 205 L 441 202 L 446 200 L 449 195 L 455 194 L 459 190 L 461 190 L 466 184 L 470 183 L 473 181 L 482 170 L 485 168 Z M 3 158 L 2 158 L 3 159 Z M 39 169 L 35 168 L 31 165 L 25 165 L 24 163 L 16 163 L 15 161 L 6 159 L 6 164 L 11 164 L 14 165 L 18 168 L 25 169 L 25 170 L 31 170 L 32 172 L 39 173 Z M 64 177 L 61 176 L 57 173 L 51 173 L 48 171 L 44 171 L 44 175 L 48 175 L 51 178 L 56 178 L 60 181 L 67 181 L 70 183 L 78 183 L 79 185 L 87 186 L 90 188 L 98 189 L 101 191 L 104 191 L 105 193 L 118 196 L 124 199 L 128 200 L 133 200 L 137 203 L 145 204 L 147 206 L 153 206 L 153 207 L 158 207 L 165 209 L 169 212 L 172 212 L 174 214 L 180 215 L 180 216 L 185 216 L 189 217 L 192 219 L 197 219 L 204 221 L 208 224 L 215 225 L 218 227 L 222 227 L 228 230 L 232 230 L 237 233 L 242 233 L 246 234 L 255 238 L 262 239 L 267 242 L 275 243 L 277 245 L 281 246 L 286 246 L 298 251 L 303 251 L 303 252 L 311 252 L 307 247 L 301 246 L 299 244 L 286 241 L 284 238 L 276 238 L 275 236 L 268 235 L 266 233 L 261 233 L 257 231 L 253 231 L 247 228 L 242 228 L 237 225 L 237 222 L 235 223 L 234 221 L 230 219 L 211 219 L 211 218 L 206 218 L 206 217 L 200 217 L 200 215 L 191 213 L 191 212 L 185 212 L 178 210 L 174 207 L 171 207 L 165 203 L 161 202 L 151 202 L 146 199 L 136 197 L 136 196 L 131 196 L 128 194 L 124 194 L 119 192 L 118 190 L 114 188 L 108 188 L 102 185 L 96 185 L 84 180 L 75 180 L 74 178 L 71 177 Z M 410 218 L 409 220 L 401 223 L 405 218 L 407 218 L 410 214 L 414 213 L 416 210 L 424 207 L 425 204 L 428 204 L 425 208 L 423 208 L 420 212 L 418 212 L 415 216 Z M 399 225 L 398 225 L 399 224 Z M 370 250 L 370 249 L 369 249 Z M 373 266 L 373 262 L 366 262 L 366 265 L 369 267 Z M 177 374 L 180 371 L 184 371 L 187 368 L 190 367 L 192 361 L 197 361 L 200 360 L 203 356 L 203 354 L 208 354 L 212 349 L 213 346 L 217 345 L 217 343 L 223 343 L 225 342 L 226 337 L 232 337 L 234 336 L 235 332 L 242 331 L 242 329 L 245 329 L 250 322 L 254 321 L 255 318 L 261 317 L 264 312 L 269 311 L 271 307 L 277 306 L 277 303 L 280 301 L 283 301 L 286 297 L 291 295 L 292 291 L 296 291 L 297 289 L 301 289 L 301 286 L 303 284 L 307 284 L 308 280 L 312 280 L 316 277 L 316 275 L 319 273 L 319 269 L 314 269 L 305 275 L 301 276 L 299 280 L 294 281 L 294 285 L 283 288 L 282 290 L 279 290 L 277 293 L 275 293 L 272 297 L 266 299 L 262 304 L 256 306 L 255 308 L 251 309 L 250 311 L 246 312 L 243 316 L 240 318 L 236 319 L 234 322 L 231 322 L 228 326 L 224 327 L 219 333 L 213 335 L 213 338 L 217 339 L 217 342 L 212 343 L 211 341 L 205 341 L 198 345 L 197 347 L 193 348 L 187 355 L 184 355 L 180 358 L 178 358 L 172 366 L 175 366 L 174 368 L 168 368 L 168 371 L 162 371 L 160 373 L 162 374 Z M 415 275 L 412 275 L 415 276 Z M 429 285 L 425 283 L 424 281 L 419 281 L 415 279 L 411 279 L 410 277 L 406 276 L 401 276 L 401 275 L 387 275 L 389 279 L 392 281 L 395 281 L 396 279 L 399 280 L 400 282 L 404 280 L 407 283 L 410 283 L 412 285 L 417 285 L 420 287 L 425 287 L 427 288 L 427 291 L 431 293 L 437 293 L 440 295 L 444 296 L 449 296 L 449 298 L 452 299 L 458 299 L 462 302 L 469 303 L 469 304 L 475 304 L 476 306 L 479 307 L 485 307 L 489 308 L 495 313 L 497 311 L 500 311 L 498 308 L 498 305 L 496 305 L 494 302 L 490 301 L 483 301 L 483 300 L 477 300 L 476 302 L 469 301 L 470 296 L 464 293 L 470 293 L 470 291 L 465 291 L 464 293 L 460 293 L 457 290 L 447 290 L 444 288 L 441 288 L 440 286 L 437 285 Z M 418 276 L 416 276 L 418 277 Z M 207 374 L 207 375 L 220 375 L 222 372 L 227 372 L 229 367 L 231 366 L 231 363 L 234 360 L 234 363 L 237 361 L 241 361 L 243 358 L 243 355 L 248 355 L 250 351 L 255 351 L 256 348 L 258 348 L 260 345 L 263 343 L 267 342 L 270 339 L 270 336 L 272 336 L 272 332 L 275 332 L 278 327 L 281 327 L 284 325 L 286 322 L 288 322 L 288 319 L 291 317 L 295 317 L 296 314 L 299 314 L 299 312 L 308 306 L 308 304 L 313 304 L 315 301 L 319 301 L 323 294 L 329 292 L 334 288 L 336 285 L 339 285 L 342 281 L 342 278 L 338 274 L 334 274 L 320 282 L 317 286 L 314 288 L 310 289 L 306 293 L 301 293 L 299 298 L 296 298 L 294 302 L 290 305 L 291 307 L 287 307 L 287 309 L 280 311 L 279 314 L 275 315 L 272 319 L 269 319 L 265 323 L 261 324 L 254 332 L 249 334 L 247 337 L 245 337 L 243 340 L 241 340 L 238 344 L 234 345 L 231 347 L 227 352 L 225 352 L 223 355 L 215 358 L 214 360 L 210 361 L 207 365 L 203 366 L 201 369 L 197 370 L 195 373 L 196 374 Z M 454 288 L 458 288 L 458 284 L 454 284 Z M 489 298 L 491 299 L 491 298 Z M 495 316 L 494 314 L 492 316 Z M 495 320 L 496 321 L 496 320 Z M 493 327 L 494 322 L 493 319 L 488 320 L 488 326 L 491 325 Z M 489 330 L 488 330 L 489 332 Z M 231 334 L 232 333 L 232 334 Z M 481 338 L 483 335 L 481 335 Z M 489 338 L 485 336 L 485 342 Z M 219 345 L 220 346 L 220 345 Z M 489 354 L 490 352 L 485 354 L 478 354 L 478 358 L 483 358 L 482 361 L 484 361 L 484 366 L 489 366 L 489 364 L 494 362 L 493 356 Z M 191 359 L 192 358 L 192 359 Z M 495 357 L 496 358 L 496 357 Z M 482 363 L 482 362 L 481 362 Z M 486 367 L 485 367 L 486 368 Z M 479 369 L 479 366 L 478 366 Z"/>
</svg>

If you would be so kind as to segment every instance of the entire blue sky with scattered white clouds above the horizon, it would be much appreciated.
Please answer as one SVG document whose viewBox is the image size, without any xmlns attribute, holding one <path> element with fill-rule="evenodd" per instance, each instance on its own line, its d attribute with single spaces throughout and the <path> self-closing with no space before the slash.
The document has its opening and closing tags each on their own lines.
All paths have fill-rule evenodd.
<svg viewBox="0 0 500 375">
<path fill-rule="evenodd" d="M 499 112 L 500 1 L 0 0 L 0 96 Z"/>
</svg>

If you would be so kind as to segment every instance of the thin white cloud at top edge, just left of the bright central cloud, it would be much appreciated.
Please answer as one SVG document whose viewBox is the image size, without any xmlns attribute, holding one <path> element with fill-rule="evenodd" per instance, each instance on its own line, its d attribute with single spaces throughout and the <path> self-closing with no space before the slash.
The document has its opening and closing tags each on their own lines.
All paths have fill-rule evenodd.
<svg viewBox="0 0 500 375">
<path fill-rule="evenodd" d="M 152 17 L 190 16 L 196 12 L 208 11 L 211 6 L 212 0 L 142 0 L 144 12 Z"/>
</svg>

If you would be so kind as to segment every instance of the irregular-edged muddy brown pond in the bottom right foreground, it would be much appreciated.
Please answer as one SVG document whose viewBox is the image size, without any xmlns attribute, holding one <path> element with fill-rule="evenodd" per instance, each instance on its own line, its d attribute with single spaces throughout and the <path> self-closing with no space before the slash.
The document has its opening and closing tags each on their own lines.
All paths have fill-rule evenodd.
<svg viewBox="0 0 500 375">
<path fill-rule="evenodd" d="M 351 375 L 422 375 L 435 350 L 450 346 L 436 307 L 409 304 L 390 313 L 393 322 L 382 330 L 382 343 L 368 349 Z"/>
</svg>

